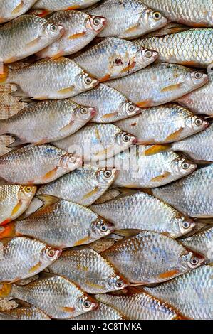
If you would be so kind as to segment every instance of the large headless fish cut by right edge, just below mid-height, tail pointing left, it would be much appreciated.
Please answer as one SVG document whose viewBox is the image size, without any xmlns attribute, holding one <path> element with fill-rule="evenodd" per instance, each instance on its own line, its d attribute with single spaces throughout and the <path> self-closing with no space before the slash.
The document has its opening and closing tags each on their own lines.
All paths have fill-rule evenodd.
<svg viewBox="0 0 213 334">
<path fill-rule="evenodd" d="M 213 217 L 213 164 L 202 166 L 187 178 L 152 189 L 152 194 L 189 217 Z"/>
</svg>

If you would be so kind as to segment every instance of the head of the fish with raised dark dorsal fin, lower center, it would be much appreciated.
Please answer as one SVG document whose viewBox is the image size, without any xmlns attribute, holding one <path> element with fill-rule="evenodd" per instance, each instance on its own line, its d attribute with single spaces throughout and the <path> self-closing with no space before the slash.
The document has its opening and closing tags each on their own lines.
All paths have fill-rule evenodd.
<svg viewBox="0 0 213 334">
<path fill-rule="evenodd" d="M 112 222 L 98 216 L 97 220 L 92 222 L 89 234 L 92 241 L 94 241 L 110 235 L 114 230 L 115 226 Z"/>
</svg>

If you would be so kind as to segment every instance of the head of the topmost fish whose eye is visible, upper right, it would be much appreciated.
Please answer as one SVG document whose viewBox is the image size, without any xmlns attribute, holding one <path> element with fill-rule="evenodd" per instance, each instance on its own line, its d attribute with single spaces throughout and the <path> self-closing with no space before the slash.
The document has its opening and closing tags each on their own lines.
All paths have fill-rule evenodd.
<svg viewBox="0 0 213 334">
<path fill-rule="evenodd" d="M 155 31 L 164 27 L 167 24 L 167 18 L 160 11 L 146 9 L 140 16 L 139 24 L 145 26 L 146 31 Z"/>
</svg>

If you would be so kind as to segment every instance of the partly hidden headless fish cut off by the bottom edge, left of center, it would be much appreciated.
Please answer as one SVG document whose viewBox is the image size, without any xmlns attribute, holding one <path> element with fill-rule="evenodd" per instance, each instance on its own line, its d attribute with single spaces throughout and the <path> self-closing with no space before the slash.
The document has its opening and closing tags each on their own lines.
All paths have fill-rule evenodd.
<svg viewBox="0 0 213 334">
<path fill-rule="evenodd" d="M 99 303 L 98 308 L 94 311 L 81 314 L 73 320 L 123 320 L 123 314 L 112 306 L 105 303 Z"/>
</svg>

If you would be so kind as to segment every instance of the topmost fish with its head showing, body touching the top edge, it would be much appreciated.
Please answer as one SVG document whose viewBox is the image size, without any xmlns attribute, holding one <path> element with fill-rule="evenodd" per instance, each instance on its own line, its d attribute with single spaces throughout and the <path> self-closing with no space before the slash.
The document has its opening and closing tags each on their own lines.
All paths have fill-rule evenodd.
<svg viewBox="0 0 213 334">
<path fill-rule="evenodd" d="M 105 0 L 88 13 L 106 18 L 107 25 L 99 34 L 102 37 L 132 39 L 167 24 L 167 18 L 160 11 L 153 11 L 139 0 Z"/>
</svg>

